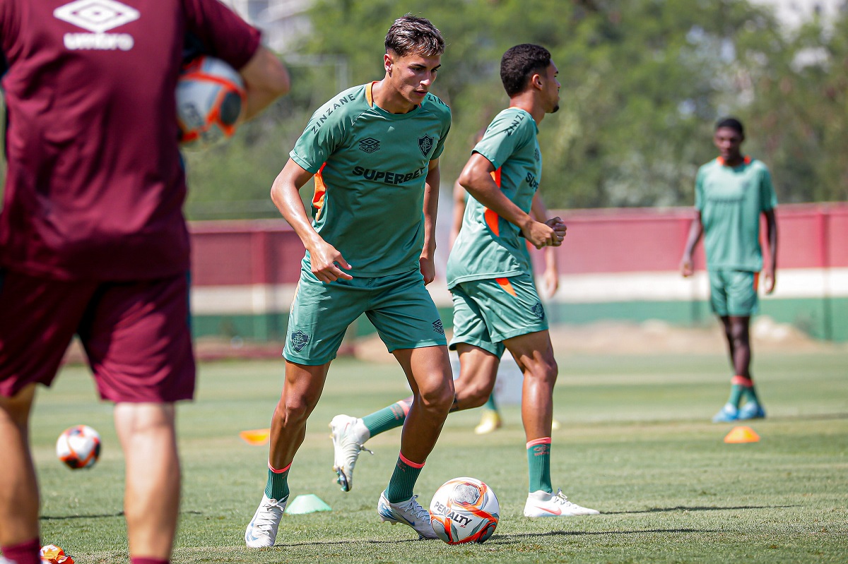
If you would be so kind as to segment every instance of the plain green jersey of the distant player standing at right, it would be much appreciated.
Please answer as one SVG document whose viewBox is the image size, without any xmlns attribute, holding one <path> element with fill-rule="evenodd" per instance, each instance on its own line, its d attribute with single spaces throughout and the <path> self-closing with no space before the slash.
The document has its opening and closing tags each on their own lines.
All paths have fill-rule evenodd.
<svg viewBox="0 0 848 564">
<path fill-rule="evenodd" d="M 695 208 L 704 225 L 707 268 L 762 269 L 760 215 L 778 205 L 766 165 L 745 157 L 737 167 L 721 158 L 698 170 Z"/>
</svg>

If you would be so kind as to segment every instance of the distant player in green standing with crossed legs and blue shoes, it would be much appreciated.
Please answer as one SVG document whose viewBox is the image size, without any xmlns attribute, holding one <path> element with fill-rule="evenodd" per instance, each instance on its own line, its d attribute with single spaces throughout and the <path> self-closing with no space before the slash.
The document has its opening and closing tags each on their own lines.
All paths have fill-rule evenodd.
<svg viewBox="0 0 848 564">
<path fill-rule="evenodd" d="M 734 369 L 730 398 L 714 423 L 766 417 L 750 375 L 750 316 L 757 312 L 757 282 L 765 274 L 765 291 L 774 291 L 777 273 L 777 198 L 766 165 L 742 154 L 745 129 L 738 119 L 722 119 L 713 142 L 719 157 L 698 170 L 695 221 L 680 261 L 683 276 L 694 272 L 692 252 L 704 235 L 712 311 L 722 320 Z M 768 262 L 763 268 L 760 216 L 766 218 Z M 745 405 L 739 406 L 742 400 Z"/>
</svg>

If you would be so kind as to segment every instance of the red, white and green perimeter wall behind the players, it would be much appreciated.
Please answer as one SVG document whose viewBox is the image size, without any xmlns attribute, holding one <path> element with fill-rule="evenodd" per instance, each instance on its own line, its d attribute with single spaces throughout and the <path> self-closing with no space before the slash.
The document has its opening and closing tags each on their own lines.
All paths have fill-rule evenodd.
<svg viewBox="0 0 848 564">
<path fill-rule="evenodd" d="M 689 290 L 692 285 L 677 274 L 693 218 L 691 208 L 557 213 L 565 219 L 568 235 L 557 255 L 561 292 L 549 307 L 561 306 L 566 314 L 554 315 L 554 320 L 609 318 L 615 315 L 612 311 L 626 311 L 625 303 L 631 310 L 645 304 L 647 311 L 662 301 L 683 305 L 683 301 L 706 300 L 703 284 L 699 290 Z M 443 211 L 440 216 L 449 218 L 449 213 Z M 191 231 L 196 327 L 203 326 L 204 319 L 220 325 L 221 318 L 232 323 L 254 319 L 250 323 L 255 324 L 257 316 L 285 317 L 304 255 L 304 247 L 285 221 L 193 223 Z M 808 318 L 798 324 L 812 335 L 848 340 L 848 326 L 840 324 L 848 323 L 844 321 L 848 319 L 848 204 L 778 207 L 778 238 L 778 291 L 763 301 L 763 312 L 789 322 L 799 316 Z M 439 242 L 444 259 L 447 241 Z M 701 245 L 695 262 L 703 268 Z M 444 274 L 444 265 L 439 271 Z M 449 307 L 444 282 L 432 285 L 432 293 L 438 305 Z M 612 302 L 616 307 L 605 307 Z M 673 315 L 669 319 L 692 321 Z M 284 331 L 284 319 L 271 324 L 270 333 L 260 330 L 252 336 Z M 215 329 L 206 327 L 201 333 L 215 333 Z"/>
</svg>

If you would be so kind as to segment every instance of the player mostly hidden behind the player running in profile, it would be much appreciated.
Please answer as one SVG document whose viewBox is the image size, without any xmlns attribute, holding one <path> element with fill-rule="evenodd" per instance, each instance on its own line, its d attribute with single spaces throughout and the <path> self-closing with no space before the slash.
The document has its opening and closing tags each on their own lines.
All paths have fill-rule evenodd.
<svg viewBox="0 0 848 564">
<path fill-rule="evenodd" d="M 478 131 L 476 135 L 474 135 L 474 141 L 471 143 L 471 147 L 473 148 L 477 145 L 477 142 L 483 139 L 483 134 L 485 130 Z M 466 212 L 466 202 L 468 201 L 468 192 L 457 180 L 454 183 L 454 216 L 453 223 L 450 226 L 450 246 L 453 248 L 454 242 L 456 238 L 460 235 L 460 228 L 462 227 L 462 216 L 465 215 Z M 548 217 L 548 210 L 544 207 L 544 202 L 542 202 L 542 196 L 539 195 L 538 191 L 536 195 L 533 196 L 533 207 L 531 208 L 531 215 L 536 221 L 543 221 Z M 556 251 L 552 246 L 544 247 L 544 260 L 545 260 L 545 268 L 543 277 L 543 287 L 545 290 L 545 295 L 549 298 L 553 297 L 556 293 L 556 290 L 560 287 L 560 273 L 556 268 Z M 503 425 L 503 420 L 500 417 L 500 412 L 498 409 L 497 401 L 494 398 L 494 392 L 492 395 L 488 396 L 488 400 L 483 404 L 483 415 L 480 417 L 480 423 L 477 423 L 477 427 L 474 428 L 475 434 L 488 434 L 493 433 L 494 431 L 501 428 Z M 551 428 L 556 430 L 561 428 L 561 423 L 556 419 L 551 421 Z"/>
</svg>

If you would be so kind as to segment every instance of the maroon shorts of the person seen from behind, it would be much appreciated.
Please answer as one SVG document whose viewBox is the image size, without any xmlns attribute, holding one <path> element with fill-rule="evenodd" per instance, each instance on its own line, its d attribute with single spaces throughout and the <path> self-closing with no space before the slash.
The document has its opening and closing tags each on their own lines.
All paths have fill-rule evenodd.
<svg viewBox="0 0 848 564">
<path fill-rule="evenodd" d="M 192 398 L 186 275 L 97 282 L 0 269 L 0 395 L 50 385 L 75 333 L 104 400 Z"/>
</svg>

